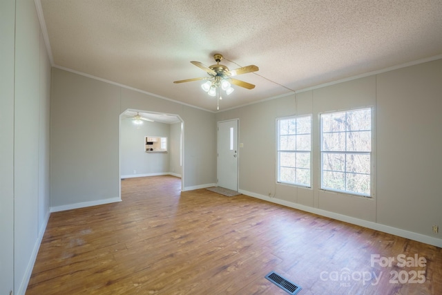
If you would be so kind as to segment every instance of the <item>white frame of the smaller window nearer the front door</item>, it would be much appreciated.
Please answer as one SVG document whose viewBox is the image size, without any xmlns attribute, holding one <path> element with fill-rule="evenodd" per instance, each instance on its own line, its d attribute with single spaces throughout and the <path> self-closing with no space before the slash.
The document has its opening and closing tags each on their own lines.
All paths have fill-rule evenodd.
<svg viewBox="0 0 442 295">
<path fill-rule="evenodd" d="M 294 133 L 293 135 L 310 135 L 310 149 L 309 150 L 282 150 L 280 149 L 280 122 L 282 120 L 297 120 L 300 118 L 304 118 L 304 117 L 309 117 L 310 119 L 310 133 Z M 312 131 L 313 131 L 313 116 L 311 114 L 307 114 L 307 115 L 296 115 L 296 116 L 289 116 L 289 117 L 280 117 L 278 119 L 276 119 L 276 182 L 280 183 L 280 184 L 287 184 L 287 185 L 293 185 L 296 187 L 307 187 L 307 188 L 311 188 L 311 183 L 312 183 L 312 146 L 313 146 L 313 138 L 312 138 Z M 304 184 L 304 183 L 298 183 L 298 182 L 287 182 L 287 181 L 283 181 L 280 179 L 280 153 L 281 152 L 290 152 L 290 153 L 309 153 L 309 184 Z M 293 166 L 291 168 L 295 168 L 296 166 Z M 298 167 L 299 169 L 299 167 Z"/>
</svg>

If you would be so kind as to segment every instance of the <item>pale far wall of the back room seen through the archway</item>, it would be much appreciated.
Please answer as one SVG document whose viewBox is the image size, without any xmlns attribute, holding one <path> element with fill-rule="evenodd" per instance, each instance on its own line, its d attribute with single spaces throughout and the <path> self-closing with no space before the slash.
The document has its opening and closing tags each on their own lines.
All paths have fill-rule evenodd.
<svg viewBox="0 0 442 295">
<path fill-rule="evenodd" d="M 142 125 L 135 126 L 132 120 L 122 120 L 119 144 L 122 178 L 169 173 L 170 149 L 167 152 L 146 153 L 145 136 L 167 137 L 168 146 L 173 142 L 170 124 L 143 122 Z"/>
</svg>

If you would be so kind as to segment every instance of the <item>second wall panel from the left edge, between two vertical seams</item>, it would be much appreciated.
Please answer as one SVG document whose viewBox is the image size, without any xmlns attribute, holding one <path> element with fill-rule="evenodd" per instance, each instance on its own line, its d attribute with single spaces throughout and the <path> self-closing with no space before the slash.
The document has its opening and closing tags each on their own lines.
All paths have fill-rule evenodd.
<svg viewBox="0 0 442 295">
<path fill-rule="evenodd" d="M 26 289 L 38 234 L 40 31 L 35 4 L 17 0 L 15 35 L 15 289 Z"/>
</svg>

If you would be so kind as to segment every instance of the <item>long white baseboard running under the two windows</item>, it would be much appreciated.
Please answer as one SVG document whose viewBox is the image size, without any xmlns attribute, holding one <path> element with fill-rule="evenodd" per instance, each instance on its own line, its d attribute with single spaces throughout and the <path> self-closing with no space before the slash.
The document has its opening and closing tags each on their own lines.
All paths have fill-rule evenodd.
<svg viewBox="0 0 442 295">
<path fill-rule="evenodd" d="M 244 195 L 247 195 L 247 196 L 251 196 L 253 198 L 258 198 L 260 200 L 265 200 L 265 201 L 273 202 L 276 204 L 281 204 L 283 206 L 291 207 L 294 209 L 299 209 L 299 210 L 306 211 L 309 213 L 318 214 L 320 216 L 325 216 L 325 217 L 333 218 L 333 219 L 340 220 L 343 222 L 352 223 L 353 225 L 367 227 L 369 229 L 374 229 L 376 231 L 383 231 L 387 234 L 401 236 L 403 238 L 408 238 L 410 240 L 416 240 L 418 242 L 423 242 L 428 245 L 442 247 L 442 239 L 440 239 L 440 238 L 433 238 L 431 236 L 425 236 L 423 234 L 414 233 L 412 231 L 406 231 L 404 229 L 390 227 L 389 225 L 382 225 L 381 223 L 376 223 L 376 222 L 367 221 L 367 220 L 363 220 L 363 219 L 359 219 L 359 218 L 354 218 L 354 217 L 346 216 L 343 214 L 326 211 L 323 209 L 318 209 L 318 208 L 314 208 L 314 207 L 305 206 L 302 204 L 296 204 L 294 202 L 280 200 L 277 198 L 270 198 L 268 196 L 260 195 L 258 193 L 252 193 L 251 191 L 244 191 L 244 190 L 240 189 L 240 190 L 238 190 L 238 192 L 242 193 Z"/>
</svg>

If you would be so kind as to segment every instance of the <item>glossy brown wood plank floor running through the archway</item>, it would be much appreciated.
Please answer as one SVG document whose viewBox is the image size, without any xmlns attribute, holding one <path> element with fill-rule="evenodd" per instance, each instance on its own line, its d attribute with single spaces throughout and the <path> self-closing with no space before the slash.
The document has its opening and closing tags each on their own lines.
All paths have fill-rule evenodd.
<svg viewBox="0 0 442 295">
<path fill-rule="evenodd" d="M 52 213 L 26 294 L 287 294 L 271 271 L 300 295 L 442 294 L 439 247 L 180 187 L 130 178 L 122 202 Z"/>
</svg>

